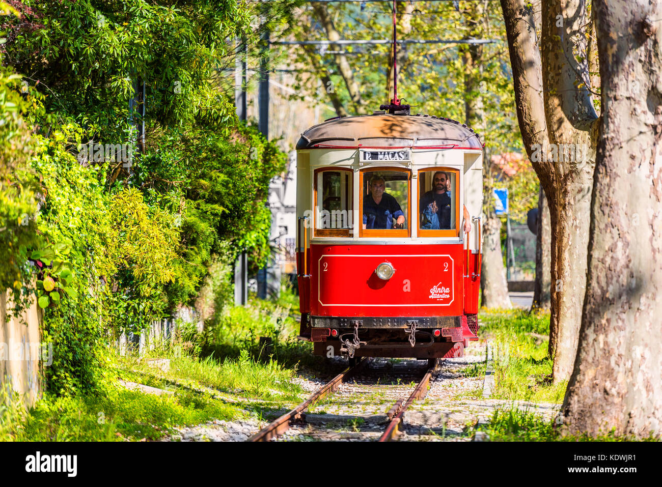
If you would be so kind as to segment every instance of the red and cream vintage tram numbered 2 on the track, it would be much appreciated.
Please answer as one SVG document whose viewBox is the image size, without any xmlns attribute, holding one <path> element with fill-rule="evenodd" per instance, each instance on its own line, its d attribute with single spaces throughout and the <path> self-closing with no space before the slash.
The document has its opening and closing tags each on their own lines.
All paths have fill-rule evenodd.
<svg viewBox="0 0 662 487">
<path fill-rule="evenodd" d="M 478 339 L 483 146 L 454 120 L 385 108 L 297 144 L 299 338 L 352 361 L 462 357 Z"/>
</svg>

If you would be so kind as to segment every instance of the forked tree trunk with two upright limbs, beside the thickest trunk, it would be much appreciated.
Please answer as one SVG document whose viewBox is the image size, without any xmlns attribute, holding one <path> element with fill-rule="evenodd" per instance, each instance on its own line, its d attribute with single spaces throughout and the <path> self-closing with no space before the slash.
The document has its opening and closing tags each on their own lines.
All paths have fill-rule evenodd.
<svg viewBox="0 0 662 487">
<path fill-rule="evenodd" d="M 584 0 L 542 1 L 542 54 L 536 45 L 536 5 L 501 0 L 520 131 L 538 174 L 551 220 L 551 324 L 555 382 L 566 380 L 577 351 L 586 284 L 589 203 L 594 167 L 591 79 L 582 44 L 590 25 Z M 560 19 L 559 19 L 560 17 Z M 560 24 L 559 24 L 560 20 Z M 579 59 L 579 61 L 578 61 Z M 544 73 L 544 75 L 543 75 Z M 545 126 L 546 122 L 546 126 Z M 535 161 L 534 144 L 587 146 L 586 161 Z"/>
</svg>

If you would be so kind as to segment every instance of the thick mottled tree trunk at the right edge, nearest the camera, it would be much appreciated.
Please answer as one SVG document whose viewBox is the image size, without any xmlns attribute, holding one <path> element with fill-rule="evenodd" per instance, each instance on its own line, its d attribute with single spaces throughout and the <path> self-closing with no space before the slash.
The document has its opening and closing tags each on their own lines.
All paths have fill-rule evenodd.
<svg viewBox="0 0 662 487">
<path fill-rule="evenodd" d="M 662 0 L 596 0 L 602 136 L 569 431 L 662 434 Z"/>
</svg>

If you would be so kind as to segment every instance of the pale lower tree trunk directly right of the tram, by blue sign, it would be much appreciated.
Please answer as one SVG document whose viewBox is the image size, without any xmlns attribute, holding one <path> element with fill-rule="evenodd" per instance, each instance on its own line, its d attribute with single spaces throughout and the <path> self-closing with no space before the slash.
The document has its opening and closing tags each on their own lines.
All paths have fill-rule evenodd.
<svg viewBox="0 0 662 487">
<path fill-rule="evenodd" d="M 491 198 L 492 195 L 489 195 Z M 512 308 L 508 296 L 508 281 L 501 253 L 501 220 L 494 214 L 483 224 L 483 264 L 481 265 L 481 306 Z"/>
</svg>

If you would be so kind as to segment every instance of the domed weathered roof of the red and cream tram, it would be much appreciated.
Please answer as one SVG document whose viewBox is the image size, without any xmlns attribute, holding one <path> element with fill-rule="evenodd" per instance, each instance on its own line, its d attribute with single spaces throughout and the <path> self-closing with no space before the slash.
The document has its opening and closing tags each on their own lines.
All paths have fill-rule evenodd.
<svg viewBox="0 0 662 487">
<path fill-rule="evenodd" d="M 413 147 L 481 150 L 465 124 L 434 115 L 372 114 L 331 118 L 308 128 L 297 149 Z"/>
</svg>

